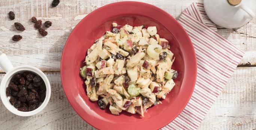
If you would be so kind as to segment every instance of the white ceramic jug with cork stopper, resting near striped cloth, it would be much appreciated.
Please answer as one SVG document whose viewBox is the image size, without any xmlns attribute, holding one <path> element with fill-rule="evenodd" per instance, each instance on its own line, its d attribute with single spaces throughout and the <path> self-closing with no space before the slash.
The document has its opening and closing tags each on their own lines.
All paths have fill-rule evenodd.
<svg viewBox="0 0 256 130">
<path fill-rule="evenodd" d="M 204 8 L 216 25 L 233 29 L 255 17 L 256 0 L 204 0 Z"/>
</svg>

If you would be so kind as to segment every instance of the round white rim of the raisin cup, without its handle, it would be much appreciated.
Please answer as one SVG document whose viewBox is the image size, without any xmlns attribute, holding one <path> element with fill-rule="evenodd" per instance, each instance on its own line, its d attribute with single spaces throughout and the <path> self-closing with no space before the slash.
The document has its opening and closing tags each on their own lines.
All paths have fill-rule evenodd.
<svg viewBox="0 0 256 130">
<path fill-rule="evenodd" d="M 9 102 L 9 97 L 6 96 L 6 88 L 8 87 L 10 79 L 13 77 L 14 74 L 16 74 L 17 72 L 20 71 L 31 71 L 37 75 L 39 75 L 43 81 L 45 82 L 45 86 L 46 86 L 46 96 L 45 96 L 45 100 L 43 101 L 43 103 L 36 108 L 33 111 L 18 111 L 15 107 L 13 107 L 13 105 L 10 104 Z M 16 114 L 18 116 L 23 116 L 23 117 L 27 117 L 27 116 L 33 116 L 37 113 L 39 113 L 40 111 L 42 111 L 46 105 L 48 104 L 50 97 L 51 97 L 51 85 L 50 82 L 48 80 L 48 78 L 46 77 L 46 75 L 38 68 L 34 67 L 34 66 L 30 66 L 30 65 L 20 65 L 20 66 L 16 66 L 14 68 L 12 68 L 9 72 L 6 73 L 6 75 L 4 75 L 2 81 L 1 81 L 1 85 L 0 85 L 0 96 L 1 96 L 1 101 L 3 102 L 4 106 L 13 114 Z"/>
</svg>

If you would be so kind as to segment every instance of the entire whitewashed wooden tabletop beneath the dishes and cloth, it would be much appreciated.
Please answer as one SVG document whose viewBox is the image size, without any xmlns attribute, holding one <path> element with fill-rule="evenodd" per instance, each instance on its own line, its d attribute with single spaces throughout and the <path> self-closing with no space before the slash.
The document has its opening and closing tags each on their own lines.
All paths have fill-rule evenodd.
<svg viewBox="0 0 256 130">
<path fill-rule="evenodd" d="M 51 82 L 52 95 L 46 108 L 31 117 L 10 113 L 0 101 L 1 130 L 77 130 L 94 129 L 71 108 L 60 79 L 60 60 L 65 41 L 77 23 L 93 10 L 121 0 L 61 0 L 52 8 L 52 0 L 0 0 L 0 51 L 6 53 L 14 66 L 33 65 L 40 68 Z M 140 0 L 158 6 L 174 17 L 193 1 L 202 0 Z M 8 18 L 15 12 L 15 20 Z M 53 25 L 44 38 L 34 29 L 30 18 L 36 16 Z M 14 22 L 21 22 L 26 30 L 19 32 Z M 256 129 L 256 19 L 240 29 L 219 28 L 218 33 L 245 51 L 228 84 L 202 121 L 200 130 Z M 20 34 L 19 42 L 11 40 Z M 4 72 L 0 69 L 0 80 Z"/>
</svg>

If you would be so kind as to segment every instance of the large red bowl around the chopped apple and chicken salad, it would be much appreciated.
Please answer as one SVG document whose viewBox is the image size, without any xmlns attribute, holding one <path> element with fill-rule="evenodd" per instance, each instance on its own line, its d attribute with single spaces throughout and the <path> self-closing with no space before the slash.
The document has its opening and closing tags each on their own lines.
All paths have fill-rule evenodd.
<svg viewBox="0 0 256 130">
<path fill-rule="evenodd" d="M 149 108 L 144 118 L 127 112 L 115 116 L 109 109 L 101 110 L 87 97 L 84 80 L 79 75 L 87 49 L 111 29 L 113 21 L 118 25 L 156 26 L 160 37 L 169 41 L 176 57 L 173 69 L 179 76 L 174 80 L 175 87 L 162 104 Z M 108 4 L 88 14 L 70 34 L 61 58 L 61 80 L 74 110 L 97 129 L 156 130 L 174 120 L 192 95 L 196 80 L 195 51 L 182 26 L 164 10 L 131 1 Z"/>
</svg>

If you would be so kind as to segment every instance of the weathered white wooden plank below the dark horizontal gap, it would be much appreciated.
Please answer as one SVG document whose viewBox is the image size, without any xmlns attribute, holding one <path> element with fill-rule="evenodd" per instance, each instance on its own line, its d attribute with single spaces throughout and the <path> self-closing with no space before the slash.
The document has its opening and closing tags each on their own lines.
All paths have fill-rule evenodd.
<svg viewBox="0 0 256 130">
<path fill-rule="evenodd" d="M 59 72 L 46 72 L 52 88 L 45 109 L 31 117 L 19 117 L 0 101 L 0 128 L 3 130 L 94 129 L 80 118 L 65 97 Z M 0 81 L 4 74 L 0 74 Z M 202 121 L 199 130 L 256 129 L 256 67 L 238 68 Z"/>
</svg>

